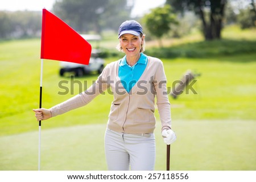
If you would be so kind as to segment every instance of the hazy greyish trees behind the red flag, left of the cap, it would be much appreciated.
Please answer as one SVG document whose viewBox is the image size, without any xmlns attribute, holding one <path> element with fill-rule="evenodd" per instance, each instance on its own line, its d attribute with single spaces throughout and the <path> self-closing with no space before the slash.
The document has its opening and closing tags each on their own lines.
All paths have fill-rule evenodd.
<svg viewBox="0 0 256 182">
<path fill-rule="evenodd" d="M 60 0 L 53 12 L 80 33 L 117 30 L 123 20 L 130 19 L 134 0 Z M 42 12 L 0 11 L 0 39 L 40 36 Z"/>
</svg>

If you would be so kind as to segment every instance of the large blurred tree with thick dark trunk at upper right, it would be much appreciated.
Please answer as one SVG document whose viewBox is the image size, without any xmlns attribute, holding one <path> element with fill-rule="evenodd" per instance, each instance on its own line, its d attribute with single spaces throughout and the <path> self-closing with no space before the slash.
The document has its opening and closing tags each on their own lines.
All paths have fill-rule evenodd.
<svg viewBox="0 0 256 182">
<path fill-rule="evenodd" d="M 226 2 L 227 0 L 166 0 L 175 11 L 193 10 L 199 15 L 206 40 L 221 39 Z"/>
</svg>

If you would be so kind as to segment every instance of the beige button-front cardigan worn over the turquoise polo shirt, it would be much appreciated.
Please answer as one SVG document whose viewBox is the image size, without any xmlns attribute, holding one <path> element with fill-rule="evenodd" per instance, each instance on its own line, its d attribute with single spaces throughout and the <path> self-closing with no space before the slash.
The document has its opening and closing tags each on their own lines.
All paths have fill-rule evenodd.
<svg viewBox="0 0 256 182">
<path fill-rule="evenodd" d="M 106 65 L 97 81 L 86 91 L 50 108 L 52 117 L 88 104 L 111 87 L 114 100 L 110 107 L 109 129 L 131 134 L 153 133 L 156 122 L 155 96 L 162 130 L 170 129 L 171 108 L 162 61 L 148 57 L 146 69 L 129 93 L 118 77 L 118 68 L 119 61 Z"/>
</svg>

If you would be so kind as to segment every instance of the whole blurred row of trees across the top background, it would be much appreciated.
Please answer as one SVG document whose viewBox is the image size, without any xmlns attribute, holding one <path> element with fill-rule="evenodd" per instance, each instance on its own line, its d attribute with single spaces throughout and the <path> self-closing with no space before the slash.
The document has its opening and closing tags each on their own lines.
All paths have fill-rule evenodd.
<svg viewBox="0 0 256 182">
<path fill-rule="evenodd" d="M 124 20 L 131 19 L 134 3 L 135 0 L 58 0 L 50 11 L 79 33 L 100 34 L 106 29 L 117 31 Z M 254 0 L 166 0 L 166 6 L 133 19 L 157 38 L 170 30 L 174 36 L 182 36 L 182 32 L 189 32 L 188 25 L 182 24 L 188 13 L 200 20 L 205 40 L 221 39 L 221 30 L 228 23 L 240 23 L 241 28 L 256 24 Z M 0 39 L 40 37 L 41 27 L 42 12 L 0 11 Z"/>
</svg>

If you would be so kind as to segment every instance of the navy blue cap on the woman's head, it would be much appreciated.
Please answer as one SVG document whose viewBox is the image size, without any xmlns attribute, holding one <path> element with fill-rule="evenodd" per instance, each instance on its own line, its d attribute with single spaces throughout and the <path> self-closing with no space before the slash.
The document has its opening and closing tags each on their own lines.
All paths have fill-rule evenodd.
<svg viewBox="0 0 256 182">
<path fill-rule="evenodd" d="M 133 34 L 139 36 L 142 31 L 142 26 L 135 20 L 126 20 L 121 24 L 118 31 L 118 39 L 125 33 Z"/>
</svg>

